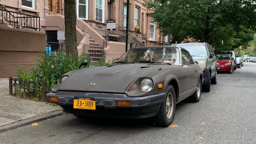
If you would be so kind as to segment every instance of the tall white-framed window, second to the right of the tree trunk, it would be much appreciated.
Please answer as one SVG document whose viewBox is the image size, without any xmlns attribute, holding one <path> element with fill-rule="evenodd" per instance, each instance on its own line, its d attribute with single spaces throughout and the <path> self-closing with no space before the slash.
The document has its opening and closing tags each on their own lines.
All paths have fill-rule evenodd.
<svg viewBox="0 0 256 144">
<path fill-rule="evenodd" d="M 104 0 L 95 1 L 95 20 L 104 23 Z"/>
</svg>

